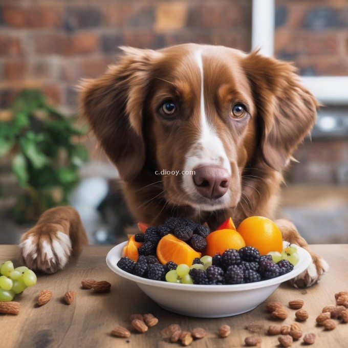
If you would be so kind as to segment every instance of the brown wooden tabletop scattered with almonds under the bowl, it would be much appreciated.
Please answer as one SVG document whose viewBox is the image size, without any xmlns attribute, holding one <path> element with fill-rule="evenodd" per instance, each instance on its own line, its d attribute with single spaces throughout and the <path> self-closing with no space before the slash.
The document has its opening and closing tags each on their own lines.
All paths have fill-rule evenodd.
<svg viewBox="0 0 348 348">
<path fill-rule="evenodd" d="M 78 259 L 72 260 L 63 271 L 54 275 L 38 276 L 37 285 L 17 295 L 20 313 L 17 316 L 0 315 L 1 347 L 175 347 L 160 335 L 167 325 L 178 323 L 183 330 L 202 327 L 208 335 L 192 342 L 193 347 L 241 347 L 245 337 L 251 335 L 245 330 L 250 322 L 268 325 L 275 323 L 265 311 L 265 303 L 253 311 L 234 317 L 202 319 L 170 313 L 150 300 L 133 282 L 124 280 L 110 271 L 105 264 L 105 256 L 111 246 L 85 247 Z M 348 290 L 348 245 L 313 245 L 312 250 L 322 255 L 331 265 L 330 271 L 318 285 L 308 289 L 294 289 L 287 284 L 281 285 L 267 301 L 280 301 L 287 305 L 289 300 L 302 298 L 303 307 L 309 312 L 309 319 L 301 323 L 304 333 L 317 335 L 314 347 L 348 347 L 348 324 L 337 322 L 333 331 L 316 327 L 315 318 L 325 305 L 335 303 L 334 294 Z M 15 261 L 17 246 L 0 246 L 0 262 Z M 108 280 L 112 284 L 110 293 L 95 294 L 92 290 L 80 287 L 84 278 Z M 42 307 L 35 305 L 37 295 L 42 289 L 53 291 L 53 298 Z M 76 299 L 68 306 L 62 296 L 74 290 Z M 111 335 L 116 325 L 129 328 L 129 315 L 134 313 L 153 313 L 159 323 L 145 334 L 132 333 L 127 338 Z M 289 317 L 284 323 L 292 323 L 295 310 L 289 309 Z M 217 337 L 222 324 L 230 325 L 232 334 L 227 338 Z M 302 340 L 292 346 L 302 346 Z M 277 336 L 262 334 L 263 347 L 278 346 Z"/>
</svg>

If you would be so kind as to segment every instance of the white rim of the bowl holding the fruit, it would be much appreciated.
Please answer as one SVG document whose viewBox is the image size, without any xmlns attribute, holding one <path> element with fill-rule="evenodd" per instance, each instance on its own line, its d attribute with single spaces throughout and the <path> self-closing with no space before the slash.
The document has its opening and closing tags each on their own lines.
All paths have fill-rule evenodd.
<svg viewBox="0 0 348 348">
<path fill-rule="evenodd" d="M 136 283 L 139 283 L 139 284 L 159 287 L 163 289 L 172 289 L 177 291 L 237 292 L 237 291 L 244 291 L 244 290 L 262 289 L 269 286 L 278 285 L 284 281 L 295 278 L 297 275 L 305 271 L 312 262 L 312 257 L 310 253 L 307 250 L 296 245 L 297 253 L 300 256 L 298 264 L 294 266 L 294 269 L 291 272 L 281 275 L 279 277 L 247 283 L 247 284 L 228 284 L 228 285 L 217 285 L 217 286 L 197 285 L 197 284 L 179 284 L 179 283 L 172 283 L 172 282 L 162 281 L 162 280 L 141 278 L 137 275 L 125 272 L 121 270 L 119 267 L 117 267 L 116 264 L 118 260 L 121 258 L 122 249 L 126 243 L 127 242 L 122 242 L 114 246 L 106 255 L 106 264 L 113 272 L 115 272 L 116 274 L 118 274 L 119 276 L 123 278 L 135 281 Z M 289 242 L 284 241 L 283 247 L 286 247 L 288 244 Z"/>
</svg>

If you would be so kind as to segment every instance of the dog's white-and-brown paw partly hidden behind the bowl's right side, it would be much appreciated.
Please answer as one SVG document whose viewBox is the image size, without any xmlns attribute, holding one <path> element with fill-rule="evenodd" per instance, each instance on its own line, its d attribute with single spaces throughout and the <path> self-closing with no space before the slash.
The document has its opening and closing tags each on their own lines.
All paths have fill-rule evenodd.
<svg viewBox="0 0 348 348">
<path fill-rule="evenodd" d="M 312 252 L 310 254 L 312 263 L 307 270 L 289 280 L 290 284 L 295 288 L 307 288 L 316 284 L 320 277 L 329 270 L 329 265 L 323 258 Z"/>
</svg>

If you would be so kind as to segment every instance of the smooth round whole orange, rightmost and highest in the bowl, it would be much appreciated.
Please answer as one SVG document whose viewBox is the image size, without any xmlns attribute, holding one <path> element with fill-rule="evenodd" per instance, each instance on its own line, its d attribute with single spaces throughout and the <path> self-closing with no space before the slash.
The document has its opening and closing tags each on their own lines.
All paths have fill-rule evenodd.
<svg viewBox="0 0 348 348">
<path fill-rule="evenodd" d="M 237 231 L 247 246 L 255 247 L 261 255 L 282 251 L 282 237 L 278 226 L 267 217 L 250 216 L 243 220 Z"/>
</svg>

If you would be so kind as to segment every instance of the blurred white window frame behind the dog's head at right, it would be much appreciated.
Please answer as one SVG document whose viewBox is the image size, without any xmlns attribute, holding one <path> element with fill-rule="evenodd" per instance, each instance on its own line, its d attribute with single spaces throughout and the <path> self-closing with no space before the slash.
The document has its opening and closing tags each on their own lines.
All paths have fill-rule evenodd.
<svg viewBox="0 0 348 348">
<path fill-rule="evenodd" d="M 275 0 L 253 0 L 251 48 L 274 54 Z M 348 105 L 348 76 L 301 76 L 303 84 L 323 104 Z"/>
</svg>

